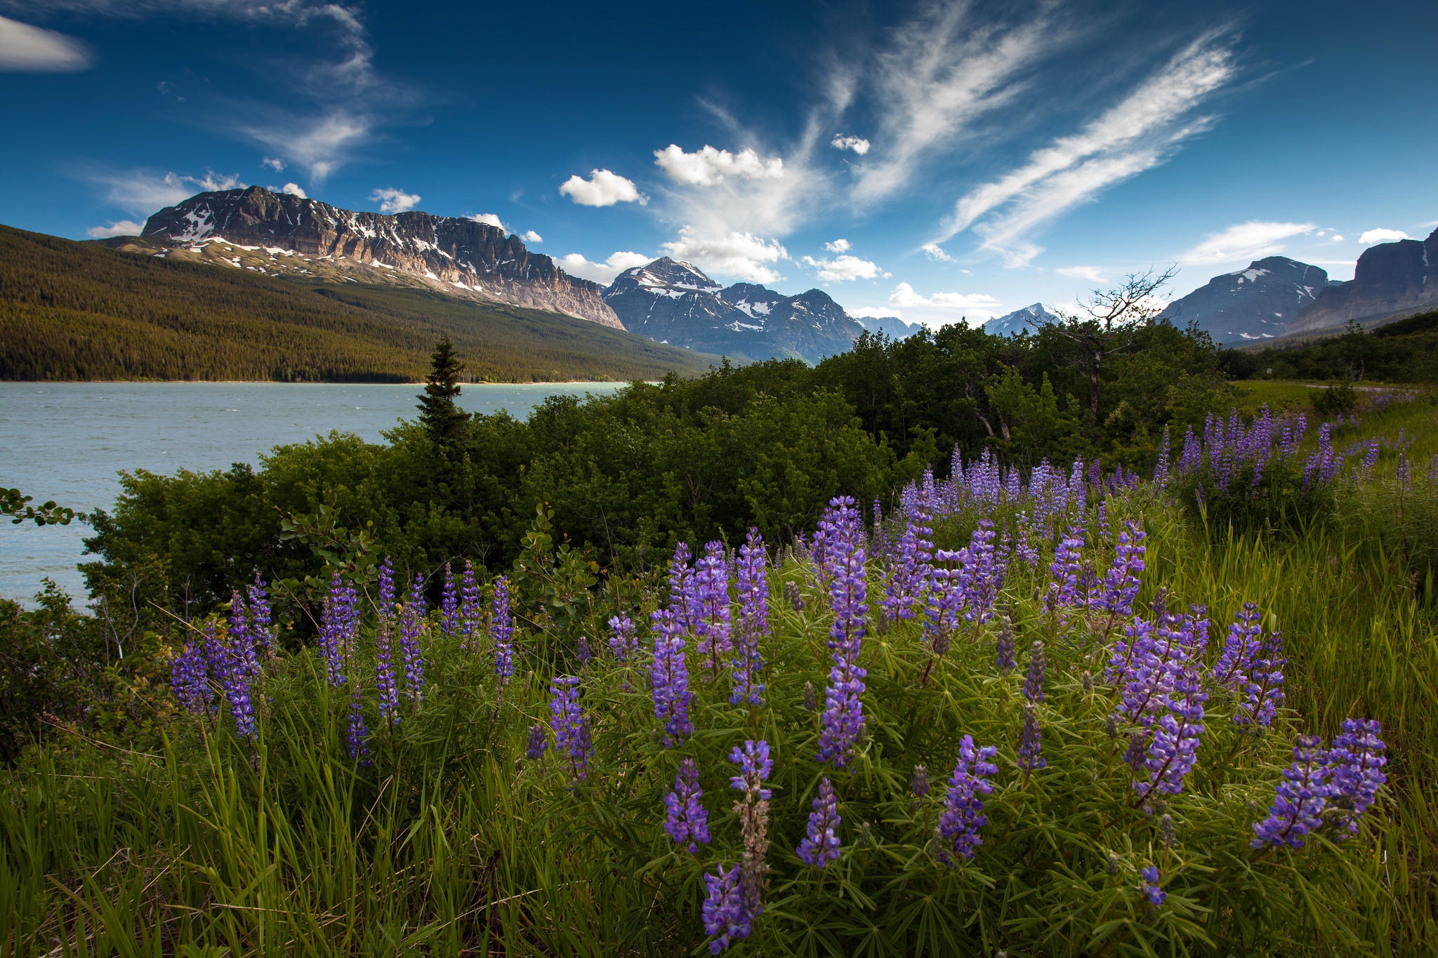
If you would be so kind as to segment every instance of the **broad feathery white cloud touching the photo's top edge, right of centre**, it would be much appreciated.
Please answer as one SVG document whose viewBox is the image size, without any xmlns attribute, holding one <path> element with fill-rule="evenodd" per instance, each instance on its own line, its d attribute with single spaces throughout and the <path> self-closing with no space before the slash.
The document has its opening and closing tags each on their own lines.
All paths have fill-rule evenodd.
<svg viewBox="0 0 1438 958">
<path fill-rule="evenodd" d="M 894 32 L 877 60 L 880 149 L 856 167 L 854 198 L 883 200 L 909 185 L 933 151 L 972 132 L 1009 103 L 1025 72 L 1067 39 L 1038 14 L 1024 23 L 982 23 L 968 3 L 932 4 Z"/>
</svg>

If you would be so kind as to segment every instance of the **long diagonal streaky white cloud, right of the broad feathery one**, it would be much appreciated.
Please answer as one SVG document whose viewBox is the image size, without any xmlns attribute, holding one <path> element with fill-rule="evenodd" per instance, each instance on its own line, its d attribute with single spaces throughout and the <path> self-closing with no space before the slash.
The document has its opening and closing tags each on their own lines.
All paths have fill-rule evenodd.
<svg viewBox="0 0 1438 958">
<path fill-rule="evenodd" d="M 1080 132 L 959 197 L 935 241 L 974 228 L 982 248 L 1009 266 L 1027 264 L 1040 251 L 1030 238 L 1040 225 L 1158 167 L 1212 126 L 1214 118 L 1196 111 L 1237 78 L 1232 45 L 1229 30 L 1198 37 Z"/>
</svg>

